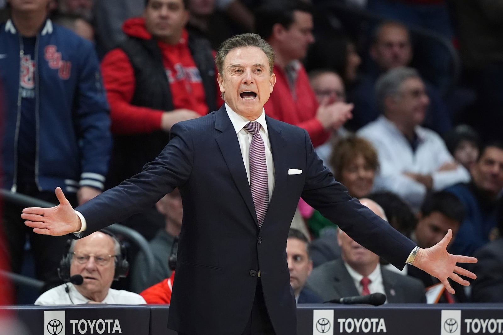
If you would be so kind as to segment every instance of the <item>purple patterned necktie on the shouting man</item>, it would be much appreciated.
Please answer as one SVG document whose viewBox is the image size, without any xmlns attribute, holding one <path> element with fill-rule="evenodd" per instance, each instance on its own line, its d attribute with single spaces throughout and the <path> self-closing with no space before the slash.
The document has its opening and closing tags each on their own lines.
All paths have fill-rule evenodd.
<svg viewBox="0 0 503 335">
<path fill-rule="evenodd" d="M 267 182 L 266 150 L 264 140 L 260 136 L 262 125 L 256 121 L 249 122 L 244 130 L 251 134 L 249 151 L 250 163 L 250 189 L 255 203 L 255 212 L 259 228 L 266 217 L 269 208 L 269 184 Z"/>
</svg>

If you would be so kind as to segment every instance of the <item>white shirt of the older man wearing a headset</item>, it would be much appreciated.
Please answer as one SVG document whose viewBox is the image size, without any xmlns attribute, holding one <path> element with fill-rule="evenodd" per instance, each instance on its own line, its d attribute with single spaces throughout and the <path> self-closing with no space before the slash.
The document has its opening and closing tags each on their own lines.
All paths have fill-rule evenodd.
<svg viewBox="0 0 503 335">
<path fill-rule="evenodd" d="M 66 285 L 68 285 L 68 293 L 65 291 Z M 67 283 L 42 293 L 35 301 L 35 305 L 76 305 L 89 303 L 90 301 L 90 299 L 80 294 L 72 283 Z M 136 305 L 145 304 L 146 302 L 139 294 L 111 288 L 101 303 Z"/>
</svg>

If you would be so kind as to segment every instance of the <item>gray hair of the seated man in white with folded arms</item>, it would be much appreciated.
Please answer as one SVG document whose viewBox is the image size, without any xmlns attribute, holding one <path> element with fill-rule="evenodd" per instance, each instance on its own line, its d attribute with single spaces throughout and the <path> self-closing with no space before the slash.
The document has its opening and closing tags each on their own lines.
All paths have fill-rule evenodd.
<svg viewBox="0 0 503 335">
<path fill-rule="evenodd" d="M 385 100 L 388 96 L 397 96 L 400 93 L 400 86 L 409 78 L 420 78 L 419 72 L 411 67 L 397 67 L 382 74 L 377 79 L 375 94 L 379 109 L 386 110 Z"/>
</svg>

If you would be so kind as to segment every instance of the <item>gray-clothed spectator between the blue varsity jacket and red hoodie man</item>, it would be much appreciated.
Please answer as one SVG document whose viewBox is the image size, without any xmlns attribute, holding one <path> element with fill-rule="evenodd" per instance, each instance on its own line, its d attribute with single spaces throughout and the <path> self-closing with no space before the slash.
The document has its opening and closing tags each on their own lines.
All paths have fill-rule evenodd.
<svg viewBox="0 0 503 335">
<path fill-rule="evenodd" d="M 145 9 L 145 2 L 141 0 L 98 0 L 95 2 L 93 24 L 100 58 L 124 42 L 126 35 L 122 31 L 122 24 L 127 19 L 141 16 Z"/>
</svg>

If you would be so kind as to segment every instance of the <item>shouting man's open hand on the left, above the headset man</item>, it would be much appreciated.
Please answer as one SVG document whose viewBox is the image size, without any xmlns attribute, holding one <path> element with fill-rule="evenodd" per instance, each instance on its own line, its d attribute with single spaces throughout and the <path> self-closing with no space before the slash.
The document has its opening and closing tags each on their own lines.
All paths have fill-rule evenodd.
<svg viewBox="0 0 503 335">
<path fill-rule="evenodd" d="M 57 206 L 23 209 L 21 217 L 26 220 L 26 226 L 33 228 L 34 233 L 61 236 L 80 230 L 80 218 L 75 214 L 60 187 L 56 188 L 56 197 L 59 201 Z"/>
</svg>

